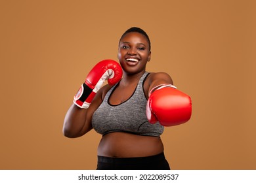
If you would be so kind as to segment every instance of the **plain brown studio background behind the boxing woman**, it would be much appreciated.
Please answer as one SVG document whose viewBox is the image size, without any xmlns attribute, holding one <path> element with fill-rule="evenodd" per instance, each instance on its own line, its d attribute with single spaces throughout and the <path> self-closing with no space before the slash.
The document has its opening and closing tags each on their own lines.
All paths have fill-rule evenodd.
<svg viewBox="0 0 256 183">
<path fill-rule="evenodd" d="M 152 41 L 150 72 L 192 97 L 165 128 L 172 169 L 256 169 L 253 1 L 1 1 L 0 169 L 95 169 L 100 135 L 62 135 L 90 69 L 117 59 L 131 26 Z"/>
</svg>

